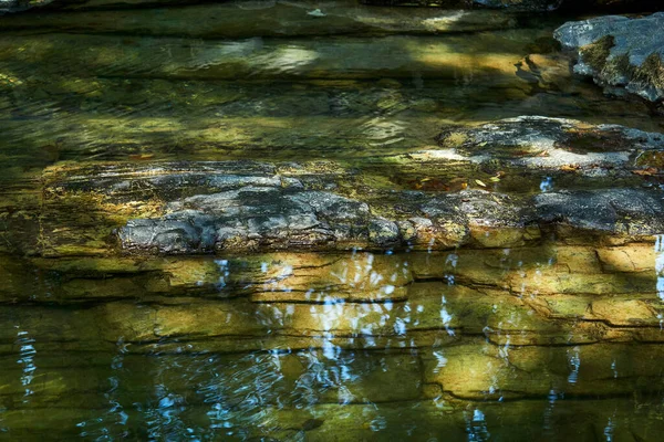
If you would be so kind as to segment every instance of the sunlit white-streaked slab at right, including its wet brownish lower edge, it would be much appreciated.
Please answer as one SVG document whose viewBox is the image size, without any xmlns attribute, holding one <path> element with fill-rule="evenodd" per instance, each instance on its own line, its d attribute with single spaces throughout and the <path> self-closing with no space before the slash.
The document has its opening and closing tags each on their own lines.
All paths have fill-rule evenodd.
<svg viewBox="0 0 664 442">
<path fill-rule="evenodd" d="M 404 164 L 425 175 L 454 161 L 474 165 L 476 177 L 519 192 L 615 187 L 616 180 L 637 187 L 639 180 L 658 175 L 664 149 L 663 134 L 540 116 L 449 126 L 437 140 L 439 149 L 404 156 Z"/>
</svg>

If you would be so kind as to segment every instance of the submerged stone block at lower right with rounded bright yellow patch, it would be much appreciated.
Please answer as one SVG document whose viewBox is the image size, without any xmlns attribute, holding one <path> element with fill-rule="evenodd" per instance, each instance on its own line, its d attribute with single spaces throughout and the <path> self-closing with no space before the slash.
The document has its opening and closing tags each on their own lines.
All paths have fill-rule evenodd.
<svg viewBox="0 0 664 442">
<path fill-rule="evenodd" d="M 647 388 L 632 377 L 661 385 L 656 359 L 662 350 L 644 347 L 649 356 L 636 359 L 632 355 L 641 349 L 627 345 L 450 347 L 438 351 L 445 364 L 440 356 L 425 359 L 425 381 L 474 400 L 542 397 L 552 390 L 566 397 L 629 394 Z"/>
</svg>

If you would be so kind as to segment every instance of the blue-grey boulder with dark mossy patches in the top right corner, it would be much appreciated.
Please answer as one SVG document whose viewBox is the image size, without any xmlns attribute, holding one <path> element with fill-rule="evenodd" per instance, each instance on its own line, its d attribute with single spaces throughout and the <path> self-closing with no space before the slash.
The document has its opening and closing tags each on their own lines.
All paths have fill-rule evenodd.
<svg viewBox="0 0 664 442">
<path fill-rule="evenodd" d="M 591 75 L 613 93 L 625 88 L 650 102 L 664 99 L 664 12 L 569 22 L 554 38 L 577 51 L 574 72 Z"/>
</svg>

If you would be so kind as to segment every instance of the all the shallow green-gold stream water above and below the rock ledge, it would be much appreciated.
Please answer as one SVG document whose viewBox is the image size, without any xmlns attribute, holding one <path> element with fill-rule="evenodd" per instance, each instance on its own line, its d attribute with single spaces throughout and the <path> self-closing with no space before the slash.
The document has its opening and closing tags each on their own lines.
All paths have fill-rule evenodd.
<svg viewBox="0 0 664 442">
<path fill-rule="evenodd" d="M 448 124 L 664 131 L 569 73 L 550 35 L 572 19 L 351 0 L 0 17 L 0 440 L 661 440 L 662 238 L 177 257 L 17 243 L 83 215 L 39 212 L 62 165 L 333 160 L 408 188 L 454 178 L 388 159 Z"/>
</svg>

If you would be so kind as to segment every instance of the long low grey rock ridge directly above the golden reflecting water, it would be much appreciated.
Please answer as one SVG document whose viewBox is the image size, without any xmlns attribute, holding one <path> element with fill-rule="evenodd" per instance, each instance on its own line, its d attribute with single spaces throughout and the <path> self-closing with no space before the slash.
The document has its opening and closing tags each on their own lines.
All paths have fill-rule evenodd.
<svg viewBox="0 0 664 442">
<path fill-rule="evenodd" d="M 206 167 L 214 172 L 212 165 Z M 169 168 L 169 165 L 160 167 L 162 172 Z M 234 178 L 247 182 L 255 177 L 236 175 Z M 191 178 L 185 173 L 181 179 Z M 270 183 L 271 180 L 278 183 Z M 116 186 L 139 187 L 139 181 L 145 183 L 131 179 Z M 573 232 L 630 236 L 664 231 L 664 202 L 654 190 L 558 191 L 533 197 L 510 197 L 486 190 L 438 196 L 404 193 L 398 197 L 405 202 L 397 213 L 381 202 L 378 194 L 374 194 L 377 200 L 364 200 L 340 194 L 339 190 L 307 189 L 298 180 L 290 182 L 293 187 L 282 187 L 284 181 L 278 178 L 264 181 L 267 186 L 240 183 L 234 190 L 164 201 L 154 212 L 158 217 L 129 219 L 118 229 L 121 248 L 126 252 L 166 254 L 352 246 L 447 249 L 464 244 L 521 245 L 539 239 L 541 230 L 551 225 L 567 229 L 571 236 Z M 100 190 L 91 189 L 90 194 L 98 196 Z M 163 194 L 164 190 L 156 193 Z M 117 194 L 102 197 L 102 207 L 123 206 Z M 61 203 L 66 208 L 64 201 L 54 197 L 49 206 L 58 210 Z M 139 214 L 141 207 L 151 207 L 154 202 L 143 200 L 133 204 L 138 209 L 125 206 L 125 217 Z M 79 244 L 83 251 L 89 246 L 76 240 L 81 234 L 76 230 L 54 229 L 41 242 L 56 249 L 59 243 Z"/>
</svg>

